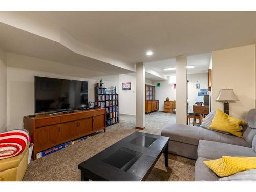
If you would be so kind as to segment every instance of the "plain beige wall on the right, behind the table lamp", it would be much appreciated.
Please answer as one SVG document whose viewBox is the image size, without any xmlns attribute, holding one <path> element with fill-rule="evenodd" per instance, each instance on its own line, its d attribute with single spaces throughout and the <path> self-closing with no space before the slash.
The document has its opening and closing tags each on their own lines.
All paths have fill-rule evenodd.
<svg viewBox="0 0 256 192">
<path fill-rule="evenodd" d="M 255 108 L 255 45 L 212 52 L 212 110 L 223 110 L 215 101 L 220 89 L 234 89 L 239 101 L 229 103 L 229 114 L 244 118 Z"/>
</svg>

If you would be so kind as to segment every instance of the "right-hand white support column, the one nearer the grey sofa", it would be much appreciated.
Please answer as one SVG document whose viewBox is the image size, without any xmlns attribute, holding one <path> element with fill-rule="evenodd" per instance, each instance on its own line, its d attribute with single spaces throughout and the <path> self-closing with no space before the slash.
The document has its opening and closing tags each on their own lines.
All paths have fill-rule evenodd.
<svg viewBox="0 0 256 192">
<path fill-rule="evenodd" d="M 186 124 L 187 119 L 187 58 L 176 57 L 176 123 Z"/>
</svg>

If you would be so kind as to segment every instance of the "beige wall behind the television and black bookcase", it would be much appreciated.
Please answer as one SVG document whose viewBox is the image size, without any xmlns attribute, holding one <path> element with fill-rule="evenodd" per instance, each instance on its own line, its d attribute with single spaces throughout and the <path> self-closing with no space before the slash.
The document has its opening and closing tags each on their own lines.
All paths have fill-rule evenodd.
<svg viewBox="0 0 256 192">
<path fill-rule="evenodd" d="M 13 59 L 13 56 L 15 59 Z M 119 75 L 101 76 L 95 77 L 94 79 L 82 78 L 80 73 L 76 73 L 79 69 L 72 66 L 73 71 L 70 71 L 69 68 L 67 70 L 70 71 L 71 76 L 68 73 L 66 74 L 65 70 L 63 70 L 63 68 L 68 67 L 67 65 L 33 57 L 26 57 L 25 59 L 29 66 L 34 65 L 33 70 L 11 67 L 18 66 L 19 61 L 24 61 L 24 57 L 26 56 L 7 54 L 7 101 L 4 98 L 2 99 L 2 95 L 0 95 L 1 100 L 3 100 L 5 104 L 7 103 L 7 112 L 5 111 L 3 113 L 3 115 L 7 114 L 7 117 L 5 116 L 4 118 L 7 119 L 7 130 L 23 127 L 23 116 L 34 114 L 34 76 L 88 81 L 89 101 L 94 101 L 94 85 L 99 82 L 100 79 L 103 80 L 104 87 L 117 86 L 117 92 L 119 91 Z M 46 69 L 42 71 L 40 67 L 36 70 L 37 63 L 48 66 L 48 72 Z M 2 65 L 0 66 L 2 67 Z M 56 70 L 58 68 L 61 69 L 60 74 L 58 74 Z M 2 83 L 2 81 L 0 83 Z M 1 91 L 1 93 L 3 92 Z M 2 103 L 1 100 L 0 103 Z M 2 115 L 0 118 L 2 118 Z"/>
</svg>

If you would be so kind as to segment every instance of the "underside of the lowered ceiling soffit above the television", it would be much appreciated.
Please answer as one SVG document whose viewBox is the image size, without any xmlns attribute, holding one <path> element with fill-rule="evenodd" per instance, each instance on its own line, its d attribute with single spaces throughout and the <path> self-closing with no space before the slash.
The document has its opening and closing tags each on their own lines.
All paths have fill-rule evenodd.
<svg viewBox="0 0 256 192">
<path fill-rule="evenodd" d="M 83 77 L 116 75 L 132 72 L 131 70 L 114 66 L 110 63 L 76 54 L 56 41 L 43 38 L 1 22 L 0 29 L 0 47 L 4 48 L 7 52 L 46 59 L 87 69 L 86 73 L 82 70 Z M 26 68 L 26 66 L 22 65 L 20 67 Z"/>
</svg>

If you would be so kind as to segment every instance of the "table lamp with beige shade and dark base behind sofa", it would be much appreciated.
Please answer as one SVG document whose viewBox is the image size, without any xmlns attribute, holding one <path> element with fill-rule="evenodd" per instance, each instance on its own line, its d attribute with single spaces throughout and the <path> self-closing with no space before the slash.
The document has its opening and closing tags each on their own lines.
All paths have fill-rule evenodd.
<svg viewBox="0 0 256 192">
<path fill-rule="evenodd" d="M 229 115 L 229 101 L 239 101 L 233 89 L 221 89 L 216 101 L 224 102 L 224 113 Z"/>
</svg>

